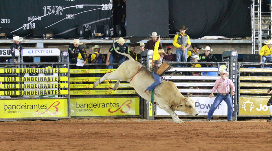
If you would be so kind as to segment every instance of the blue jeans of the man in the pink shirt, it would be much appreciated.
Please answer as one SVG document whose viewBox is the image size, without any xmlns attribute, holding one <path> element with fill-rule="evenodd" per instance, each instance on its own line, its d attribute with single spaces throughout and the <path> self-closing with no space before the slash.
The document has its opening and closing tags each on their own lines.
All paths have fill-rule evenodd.
<svg viewBox="0 0 272 151">
<path fill-rule="evenodd" d="M 218 105 L 222 102 L 225 101 L 227 103 L 228 106 L 228 120 L 232 119 L 232 98 L 230 97 L 230 95 L 217 95 L 210 110 L 208 113 L 208 117 L 207 119 L 212 119 L 212 114 L 215 111 L 215 109 L 218 107 Z"/>
</svg>

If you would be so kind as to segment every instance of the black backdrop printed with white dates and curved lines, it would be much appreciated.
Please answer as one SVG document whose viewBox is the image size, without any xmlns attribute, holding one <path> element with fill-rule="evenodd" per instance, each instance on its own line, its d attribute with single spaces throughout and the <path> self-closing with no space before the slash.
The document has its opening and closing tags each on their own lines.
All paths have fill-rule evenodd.
<svg viewBox="0 0 272 151">
<path fill-rule="evenodd" d="M 83 24 L 83 37 L 88 38 L 92 24 L 102 34 L 104 24 L 112 29 L 111 5 L 111 0 L 2 0 L 0 27 L 20 37 L 31 37 L 33 28 L 52 28 L 56 38 L 75 38 Z"/>
</svg>

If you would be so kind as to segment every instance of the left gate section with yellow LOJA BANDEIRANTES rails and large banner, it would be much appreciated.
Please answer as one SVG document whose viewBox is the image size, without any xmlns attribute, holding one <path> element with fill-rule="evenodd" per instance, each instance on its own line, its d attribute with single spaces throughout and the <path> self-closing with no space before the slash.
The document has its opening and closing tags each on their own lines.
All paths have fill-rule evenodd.
<svg viewBox="0 0 272 151">
<path fill-rule="evenodd" d="M 3 64 L 13 68 L 0 69 L 0 120 L 70 118 L 68 63 Z"/>
</svg>

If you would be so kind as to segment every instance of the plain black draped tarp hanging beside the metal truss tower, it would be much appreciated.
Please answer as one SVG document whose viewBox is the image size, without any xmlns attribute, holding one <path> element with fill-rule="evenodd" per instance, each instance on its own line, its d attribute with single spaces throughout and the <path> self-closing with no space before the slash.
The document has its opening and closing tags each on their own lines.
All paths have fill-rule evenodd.
<svg viewBox="0 0 272 151">
<path fill-rule="evenodd" d="M 196 39 L 204 36 L 251 36 L 250 0 L 169 0 L 170 30 Z"/>
</svg>

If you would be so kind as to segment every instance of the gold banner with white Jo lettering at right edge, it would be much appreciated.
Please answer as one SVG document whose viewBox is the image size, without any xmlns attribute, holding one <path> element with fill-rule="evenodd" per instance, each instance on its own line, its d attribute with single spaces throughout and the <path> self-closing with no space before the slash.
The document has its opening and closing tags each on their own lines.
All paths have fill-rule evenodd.
<svg viewBox="0 0 272 151">
<path fill-rule="evenodd" d="M 239 115 L 270 115 L 267 102 L 270 98 L 240 97 Z"/>
</svg>

